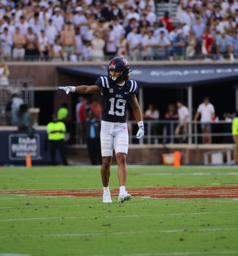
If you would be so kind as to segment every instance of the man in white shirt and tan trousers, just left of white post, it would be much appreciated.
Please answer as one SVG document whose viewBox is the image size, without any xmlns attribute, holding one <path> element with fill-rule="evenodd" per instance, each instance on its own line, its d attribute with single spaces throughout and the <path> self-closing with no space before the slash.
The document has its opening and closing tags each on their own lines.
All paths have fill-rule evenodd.
<svg viewBox="0 0 238 256">
<path fill-rule="evenodd" d="M 177 101 L 176 105 L 178 107 L 178 125 L 174 131 L 175 135 L 187 134 L 187 122 L 190 121 L 188 108 L 183 105 L 183 102 Z M 179 138 L 180 143 L 186 142 L 186 135 L 182 138 Z"/>
</svg>

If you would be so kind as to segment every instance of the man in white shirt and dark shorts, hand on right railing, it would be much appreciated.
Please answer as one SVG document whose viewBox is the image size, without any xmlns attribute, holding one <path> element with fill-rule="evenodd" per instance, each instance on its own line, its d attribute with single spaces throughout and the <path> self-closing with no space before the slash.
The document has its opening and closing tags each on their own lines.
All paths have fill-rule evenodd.
<svg viewBox="0 0 238 256">
<path fill-rule="evenodd" d="M 215 108 L 210 103 L 209 97 L 204 98 L 204 102 L 198 106 L 197 113 L 195 114 L 193 122 L 196 123 L 198 116 L 201 114 L 201 132 L 203 134 L 210 134 L 211 132 L 211 122 L 215 120 Z M 212 138 L 210 135 L 202 136 L 202 143 L 210 144 L 212 143 Z"/>
</svg>

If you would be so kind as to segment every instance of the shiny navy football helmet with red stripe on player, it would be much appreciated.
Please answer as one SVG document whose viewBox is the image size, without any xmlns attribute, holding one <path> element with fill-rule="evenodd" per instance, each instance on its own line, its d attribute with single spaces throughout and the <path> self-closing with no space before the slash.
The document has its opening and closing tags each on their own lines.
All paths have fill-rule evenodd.
<svg viewBox="0 0 238 256">
<path fill-rule="evenodd" d="M 129 63 L 128 61 L 123 57 L 115 57 L 113 58 L 108 66 L 108 79 L 112 82 L 118 82 L 118 81 L 126 81 L 128 79 L 129 74 Z M 110 74 L 110 70 L 120 70 L 120 76 L 116 79 L 113 78 Z"/>
</svg>

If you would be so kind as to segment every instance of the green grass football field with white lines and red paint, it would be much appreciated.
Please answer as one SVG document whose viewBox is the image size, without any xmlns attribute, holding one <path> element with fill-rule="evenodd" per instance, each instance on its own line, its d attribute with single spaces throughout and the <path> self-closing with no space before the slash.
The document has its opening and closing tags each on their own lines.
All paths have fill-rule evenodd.
<svg viewBox="0 0 238 256">
<path fill-rule="evenodd" d="M 114 166 L 102 204 L 100 167 L 1 168 L 0 256 L 238 255 L 237 174 L 129 166 L 119 204 Z"/>
</svg>

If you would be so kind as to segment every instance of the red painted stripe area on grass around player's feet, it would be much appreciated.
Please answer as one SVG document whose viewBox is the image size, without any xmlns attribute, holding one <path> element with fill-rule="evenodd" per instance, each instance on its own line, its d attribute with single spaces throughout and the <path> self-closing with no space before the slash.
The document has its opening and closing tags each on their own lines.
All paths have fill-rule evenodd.
<svg viewBox="0 0 238 256">
<path fill-rule="evenodd" d="M 128 192 L 132 196 L 150 198 L 238 198 L 238 185 L 160 186 L 128 189 Z M 117 196 L 118 193 L 119 189 L 111 189 L 111 196 Z M 0 195 L 100 197 L 102 189 L 8 190 L 0 191 Z"/>
</svg>

